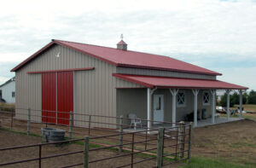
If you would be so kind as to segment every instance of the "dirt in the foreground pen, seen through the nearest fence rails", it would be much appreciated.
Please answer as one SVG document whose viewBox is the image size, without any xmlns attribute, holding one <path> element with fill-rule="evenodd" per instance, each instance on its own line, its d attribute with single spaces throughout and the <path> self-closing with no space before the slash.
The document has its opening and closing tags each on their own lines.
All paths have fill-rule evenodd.
<svg viewBox="0 0 256 168">
<path fill-rule="evenodd" d="M 37 136 L 20 135 L 19 133 L 13 133 L 5 130 L 0 130 L 0 148 L 35 144 L 41 142 L 41 138 Z M 63 144 L 63 145 L 48 145 L 42 148 L 42 157 L 53 154 L 63 154 L 69 152 L 75 152 L 83 150 L 82 145 L 78 144 Z M 90 160 L 104 159 L 110 156 L 119 155 L 118 152 L 109 150 L 101 150 L 97 152 L 90 152 Z M 21 148 L 9 151 L 0 151 L 0 163 L 20 160 L 20 159 L 32 159 L 38 158 L 38 147 L 36 148 Z M 134 156 L 134 161 L 145 159 L 143 156 Z M 73 164 L 83 163 L 83 154 L 72 154 L 68 156 L 61 156 L 58 158 L 44 159 L 42 161 L 42 167 L 61 167 Z M 131 156 L 108 159 L 105 161 L 90 164 L 90 167 L 117 167 L 119 165 L 125 165 L 131 163 Z M 155 165 L 155 160 L 149 160 L 141 164 L 134 165 L 134 167 L 152 167 Z M 32 161 L 28 163 L 9 165 L 7 167 L 38 167 L 38 161 Z M 82 166 L 77 166 L 82 167 Z"/>
</svg>

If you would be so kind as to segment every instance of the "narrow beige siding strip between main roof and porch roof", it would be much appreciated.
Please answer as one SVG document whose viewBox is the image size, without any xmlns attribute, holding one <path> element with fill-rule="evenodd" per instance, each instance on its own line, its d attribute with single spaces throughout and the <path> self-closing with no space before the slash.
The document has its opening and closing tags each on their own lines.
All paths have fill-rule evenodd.
<svg viewBox="0 0 256 168">
<path fill-rule="evenodd" d="M 135 75 L 152 75 L 160 77 L 176 77 L 176 78 L 203 78 L 203 79 L 216 79 L 214 75 L 195 74 L 188 72 L 171 72 L 171 71 L 160 71 L 153 69 L 141 69 L 131 67 L 117 67 L 117 73 L 124 74 L 135 74 Z"/>
</svg>

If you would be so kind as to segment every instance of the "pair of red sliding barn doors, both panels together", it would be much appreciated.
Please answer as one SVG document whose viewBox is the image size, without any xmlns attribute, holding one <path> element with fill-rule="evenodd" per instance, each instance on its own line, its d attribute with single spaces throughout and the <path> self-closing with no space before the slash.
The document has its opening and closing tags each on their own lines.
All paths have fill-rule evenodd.
<svg viewBox="0 0 256 168">
<path fill-rule="evenodd" d="M 73 72 L 42 73 L 42 121 L 69 125 L 70 111 L 73 112 Z"/>
</svg>

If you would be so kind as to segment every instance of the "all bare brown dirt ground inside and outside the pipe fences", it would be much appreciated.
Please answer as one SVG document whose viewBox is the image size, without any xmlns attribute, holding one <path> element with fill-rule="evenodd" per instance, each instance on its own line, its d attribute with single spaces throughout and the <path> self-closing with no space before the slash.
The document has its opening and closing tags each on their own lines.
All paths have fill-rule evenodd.
<svg viewBox="0 0 256 168">
<path fill-rule="evenodd" d="M 10 128 L 10 121 L 8 119 L 2 120 L 2 125 L 6 128 Z M 41 127 L 45 125 L 42 124 L 32 124 L 31 131 L 32 133 L 40 134 Z M 63 130 L 67 130 L 68 127 L 63 127 L 60 125 L 48 125 L 49 127 L 57 127 Z M 14 130 L 26 131 L 26 122 L 15 120 L 13 123 Z M 88 129 L 84 128 L 73 128 L 73 137 L 83 137 L 88 135 Z M 35 136 L 17 136 L 17 134 L 3 133 L 6 131 L 0 132 L 0 148 L 14 145 L 24 145 L 24 144 L 33 144 L 41 142 L 40 137 Z M 116 134 L 117 131 L 112 130 L 109 132 L 108 130 L 90 130 L 90 136 L 103 136 L 109 134 Z M 7 134 L 7 135 L 5 135 Z M 21 136 L 21 137 L 20 137 Z M 68 133 L 67 135 L 68 136 Z M 29 137 L 29 138 L 28 138 Z M 154 139 L 156 136 L 148 136 L 148 139 Z M 131 136 L 124 136 L 124 139 L 131 142 Z M 143 141 L 145 136 L 137 135 L 135 137 L 136 141 Z M 100 142 L 107 142 L 107 144 L 116 144 L 119 141 L 119 136 L 113 136 L 113 139 L 101 139 Z M 175 142 L 176 140 L 172 141 Z M 124 142 L 125 143 L 125 142 Z M 152 143 L 156 143 L 156 141 L 152 141 Z M 171 142 L 170 142 L 171 143 Z M 168 144 L 168 143 L 166 143 Z M 149 145 L 148 148 L 154 148 L 155 145 Z M 78 145 L 67 145 L 63 147 L 50 147 L 44 148 L 43 153 L 44 156 L 47 154 L 60 154 L 63 152 L 73 152 L 76 150 L 81 150 L 83 147 Z M 145 148 L 145 144 L 137 144 L 136 148 Z M 175 148 L 168 148 L 168 151 L 175 150 Z M 21 154 L 21 156 L 20 156 Z M 30 154 L 30 155 L 29 155 Z M 32 154 L 32 155 L 31 155 Z M 119 153 L 115 153 L 113 151 L 102 150 L 101 152 L 95 152 L 92 154 L 92 158 L 90 159 L 99 159 L 106 158 L 109 156 L 113 156 Z M 38 157 L 38 148 L 27 149 L 26 152 L 12 152 L 11 154 L 5 155 L 1 154 L 0 162 L 6 162 L 9 160 L 17 160 L 22 159 L 22 157 Z M 2 157 L 2 155 L 4 157 Z M 195 128 L 193 130 L 193 138 L 192 138 L 192 156 L 201 156 L 208 157 L 211 159 L 222 159 L 224 161 L 229 161 L 238 164 L 244 165 L 255 165 L 256 166 L 256 122 L 253 120 L 239 120 L 236 122 L 225 123 L 221 125 L 211 125 L 202 128 Z M 31 158 L 31 157 L 30 157 Z M 136 160 L 142 159 L 136 158 Z M 110 159 L 108 161 L 102 161 L 100 164 L 102 165 L 94 165 L 95 167 L 114 167 L 119 164 L 129 163 L 131 160 L 131 156 L 127 156 L 125 158 L 119 159 Z M 74 154 L 66 157 L 60 157 L 55 159 L 45 159 L 43 161 L 43 165 L 46 167 L 60 167 L 63 165 L 72 165 L 73 163 L 82 163 L 83 156 L 82 154 Z M 34 161 L 30 163 L 29 166 L 37 166 L 38 162 Z M 137 167 L 152 167 L 155 165 L 155 160 L 150 162 L 145 162 Z M 27 167 L 20 164 L 22 167 Z M 43 166 L 43 167 L 44 167 Z M 15 167 L 15 166 L 14 166 Z M 93 166 L 92 166 L 93 167 Z M 174 165 L 175 167 L 175 165 Z"/>
</svg>

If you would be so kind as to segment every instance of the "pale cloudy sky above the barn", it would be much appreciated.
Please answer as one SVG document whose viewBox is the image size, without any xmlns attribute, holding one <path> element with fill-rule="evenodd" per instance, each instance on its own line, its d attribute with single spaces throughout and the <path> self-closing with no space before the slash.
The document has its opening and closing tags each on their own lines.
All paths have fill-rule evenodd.
<svg viewBox="0 0 256 168">
<path fill-rule="evenodd" d="M 51 39 L 166 55 L 256 90 L 255 0 L 3 1 L 0 84 Z"/>
</svg>

